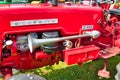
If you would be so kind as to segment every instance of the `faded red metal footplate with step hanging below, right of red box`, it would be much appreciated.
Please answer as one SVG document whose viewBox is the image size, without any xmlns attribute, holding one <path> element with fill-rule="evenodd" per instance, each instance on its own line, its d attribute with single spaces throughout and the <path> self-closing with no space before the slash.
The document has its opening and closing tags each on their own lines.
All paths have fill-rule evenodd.
<svg viewBox="0 0 120 80">
<path fill-rule="evenodd" d="M 119 47 L 107 48 L 104 51 L 100 52 L 99 57 L 104 58 L 105 62 L 104 62 L 104 68 L 98 71 L 98 76 L 110 78 L 110 71 L 107 71 L 108 58 L 111 58 L 118 54 L 120 54 Z"/>
</svg>

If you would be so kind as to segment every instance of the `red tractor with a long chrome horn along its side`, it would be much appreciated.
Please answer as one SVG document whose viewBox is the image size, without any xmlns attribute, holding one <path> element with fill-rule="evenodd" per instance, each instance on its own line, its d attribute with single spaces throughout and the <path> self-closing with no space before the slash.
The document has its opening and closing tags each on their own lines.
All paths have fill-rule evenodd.
<svg viewBox="0 0 120 80">
<path fill-rule="evenodd" d="M 120 10 L 103 9 L 102 4 L 108 2 L 113 1 L 1 4 L 0 72 L 4 79 L 13 80 L 13 68 L 24 71 L 59 61 L 81 65 L 119 54 Z"/>
</svg>

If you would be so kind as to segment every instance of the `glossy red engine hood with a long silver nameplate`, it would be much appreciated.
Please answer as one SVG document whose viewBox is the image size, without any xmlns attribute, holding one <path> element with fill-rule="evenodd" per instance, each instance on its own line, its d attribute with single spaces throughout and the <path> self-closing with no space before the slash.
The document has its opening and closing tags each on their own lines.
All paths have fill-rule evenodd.
<svg viewBox="0 0 120 80">
<path fill-rule="evenodd" d="M 50 19 L 56 23 L 12 26 L 11 22 L 38 21 Z M 0 39 L 8 33 L 23 33 L 32 31 L 60 30 L 63 34 L 77 34 L 83 25 L 92 25 L 89 30 L 100 30 L 98 21 L 103 21 L 103 10 L 100 7 L 90 6 L 43 6 L 43 5 L 0 5 Z M 21 22 L 21 23 L 22 23 Z M 54 22 L 54 21 L 53 21 Z M 20 23 L 20 24 L 21 24 Z M 18 23 L 14 23 L 18 24 Z M 87 30 L 87 29 L 85 29 Z"/>
</svg>

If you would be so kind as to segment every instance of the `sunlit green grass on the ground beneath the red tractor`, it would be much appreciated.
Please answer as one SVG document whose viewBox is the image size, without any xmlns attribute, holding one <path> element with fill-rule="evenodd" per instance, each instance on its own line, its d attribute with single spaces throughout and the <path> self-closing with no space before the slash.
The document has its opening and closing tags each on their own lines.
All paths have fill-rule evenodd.
<svg viewBox="0 0 120 80">
<path fill-rule="evenodd" d="M 116 65 L 120 62 L 120 56 L 112 57 L 108 60 L 107 69 L 111 73 L 111 78 L 100 79 L 97 76 L 98 70 L 103 69 L 104 59 L 84 63 L 81 67 L 78 65 L 68 66 L 64 62 L 59 65 L 45 66 L 39 69 L 27 71 L 46 78 L 46 80 L 115 80 Z"/>
</svg>

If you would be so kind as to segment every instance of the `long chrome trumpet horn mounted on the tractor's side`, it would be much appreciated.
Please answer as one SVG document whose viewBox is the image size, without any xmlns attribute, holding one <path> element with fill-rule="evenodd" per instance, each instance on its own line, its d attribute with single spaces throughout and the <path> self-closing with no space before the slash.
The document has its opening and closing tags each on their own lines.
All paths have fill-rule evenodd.
<svg viewBox="0 0 120 80">
<path fill-rule="evenodd" d="M 63 40 L 69 40 L 69 39 L 83 38 L 83 37 L 98 38 L 99 36 L 100 36 L 100 32 L 96 30 L 86 31 L 82 35 L 67 36 L 67 37 L 61 37 L 61 38 L 48 38 L 48 39 L 35 39 L 35 38 L 32 38 L 30 35 L 28 35 L 28 47 L 30 49 L 30 52 L 32 53 L 35 48 L 41 45 L 59 42 Z"/>
</svg>

